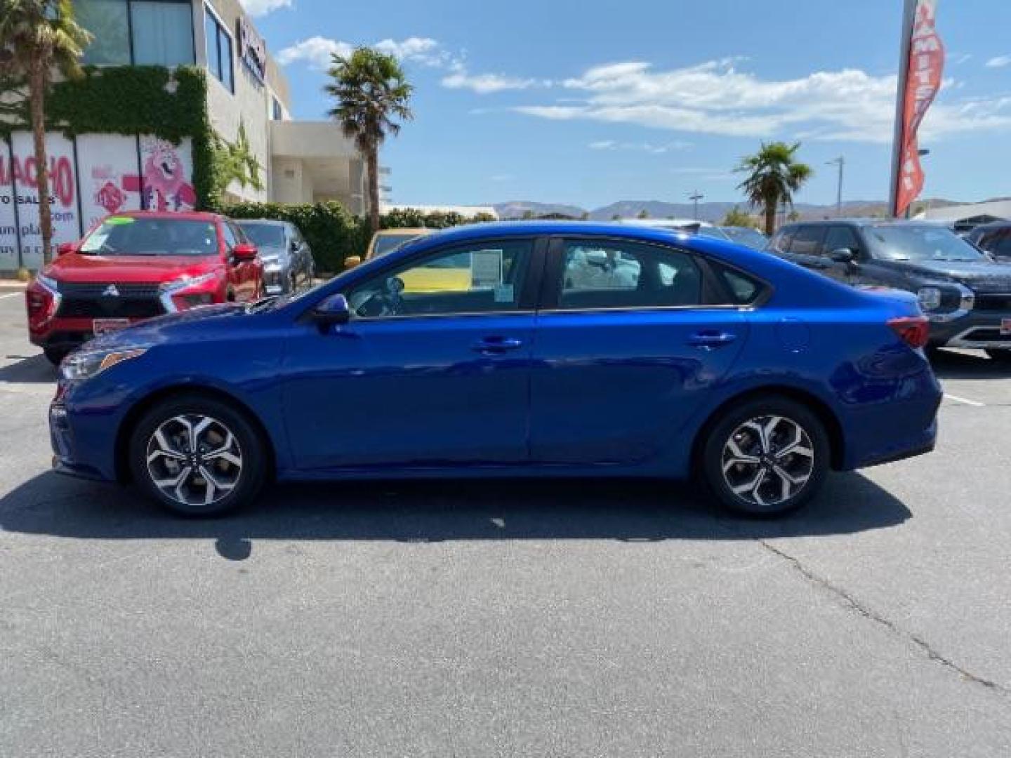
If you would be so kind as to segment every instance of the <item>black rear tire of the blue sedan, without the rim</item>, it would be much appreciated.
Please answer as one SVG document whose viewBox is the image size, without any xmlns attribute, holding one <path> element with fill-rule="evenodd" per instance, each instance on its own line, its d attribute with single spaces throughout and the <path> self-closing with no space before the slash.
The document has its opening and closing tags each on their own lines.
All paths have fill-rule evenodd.
<svg viewBox="0 0 1011 758">
<path fill-rule="evenodd" d="M 771 423 L 774 417 L 785 420 L 772 427 L 772 439 L 766 446 L 770 453 L 762 453 L 757 427 L 743 431 L 742 428 L 755 419 L 768 419 Z M 806 440 L 796 434 L 796 429 L 803 431 Z M 723 507 L 736 513 L 767 516 L 797 510 L 818 493 L 829 470 L 831 445 L 824 424 L 806 406 L 780 395 L 756 397 L 733 405 L 722 411 L 704 434 L 698 461 L 701 484 Z M 737 449 L 747 454 L 746 458 L 757 459 L 756 463 L 730 463 L 735 459 L 730 448 L 732 437 Z M 794 450 L 801 452 L 778 459 L 777 450 L 785 450 L 795 441 L 800 444 Z M 804 453 L 807 450 L 811 451 L 810 461 Z M 728 464 L 730 468 L 725 475 L 724 467 Z M 764 475 L 759 479 L 762 471 Z M 804 478 L 803 483 L 785 483 L 784 474 L 791 480 Z M 758 485 L 753 491 L 738 494 L 730 480 L 736 480 L 739 486 L 752 482 Z M 785 493 L 789 494 L 783 499 Z"/>
</svg>

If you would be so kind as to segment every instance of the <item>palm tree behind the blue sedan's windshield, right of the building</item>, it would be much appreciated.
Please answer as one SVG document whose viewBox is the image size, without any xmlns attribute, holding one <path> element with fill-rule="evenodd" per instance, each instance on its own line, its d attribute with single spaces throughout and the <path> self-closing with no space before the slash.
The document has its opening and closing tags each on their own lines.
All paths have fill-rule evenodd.
<svg viewBox="0 0 1011 758">
<path fill-rule="evenodd" d="M 337 100 L 330 115 L 355 140 L 365 156 L 369 180 L 369 222 L 379 228 L 379 146 L 387 134 L 394 136 L 403 121 L 413 118 L 407 101 L 413 87 L 407 84 L 403 69 L 392 56 L 370 48 L 358 48 L 345 58 L 336 53 L 330 67 L 333 80 L 324 87 Z"/>
</svg>

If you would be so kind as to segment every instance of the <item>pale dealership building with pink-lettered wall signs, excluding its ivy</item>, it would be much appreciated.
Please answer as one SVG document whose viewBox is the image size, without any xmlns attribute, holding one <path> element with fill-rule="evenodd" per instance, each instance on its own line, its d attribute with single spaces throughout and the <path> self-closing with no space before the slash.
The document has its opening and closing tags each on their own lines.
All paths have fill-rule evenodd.
<svg viewBox="0 0 1011 758">
<path fill-rule="evenodd" d="M 202 106 L 213 133 L 249 159 L 245 166 L 256 167 L 228 181 L 222 200 L 338 200 L 353 213 L 365 212 L 360 155 L 337 124 L 291 119 L 287 80 L 238 0 L 74 0 L 74 9 L 78 22 L 94 32 L 82 63 L 98 67 L 95 79 L 113 69 L 164 67 L 165 91 L 174 95 L 178 67 L 206 72 Z M 114 120 L 122 105 L 107 107 Z M 135 107 L 143 111 L 144 103 Z M 152 108 L 155 120 L 157 110 Z M 187 210 L 203 201 L 194 161 L 206 153 L 195 155 L 196 135 L 172 141 L 157 129 L 82 133 L 73 124 L 67 131 L 72 136 L 64 130 L 47 135 L 56 243 L 78 239 L 107 213 Z M 31 135 L 14 130 L 9 139 L 0 136 L 0 272 L 35 269 L 40 255 Z"/>
</svg>

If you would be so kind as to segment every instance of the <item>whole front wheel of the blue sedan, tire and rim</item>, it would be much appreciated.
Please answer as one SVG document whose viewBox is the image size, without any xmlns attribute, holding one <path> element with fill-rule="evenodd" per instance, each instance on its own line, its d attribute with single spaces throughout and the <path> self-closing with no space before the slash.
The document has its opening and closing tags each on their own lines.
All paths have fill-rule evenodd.
<svg viewBox="0 0 1011 758">
<path fill-rule="evenodd" d="M 216 515 L 252 502 L 266 479 L 264 442 L 246 415 L 202 395 L 158 403 L 129 440 L 133 480 L 184 515 Z"/>
</svg>

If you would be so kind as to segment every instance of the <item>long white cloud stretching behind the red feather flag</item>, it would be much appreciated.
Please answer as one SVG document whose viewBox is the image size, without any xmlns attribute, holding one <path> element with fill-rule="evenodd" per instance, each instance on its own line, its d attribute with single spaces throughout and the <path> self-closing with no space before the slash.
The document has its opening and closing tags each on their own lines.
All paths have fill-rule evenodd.
<svg viewBox="0 0 1011 758">
<path fill-rule="evenodd" d="M 628 61 L 588 69 L 562 85 L 582 92 L 577 104 L 515 108 L 552 120 L 632 123 L 673 131 L 748 137 L 796 137 L 888 143 L 892 139 L 896 77 L 856 69 L 765 80 L 739 72 L 734 60 L 669 71 Z M 925 137 L 1011 127 L 1011 103 L 991 98 L 941 102 L 927 115 Z"/>
</svg>

